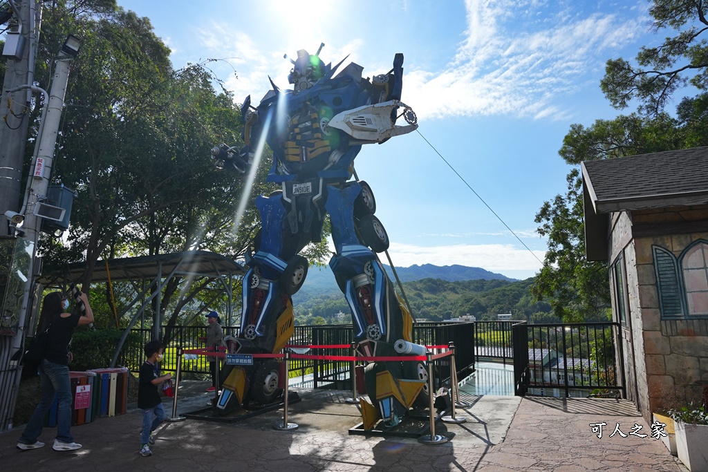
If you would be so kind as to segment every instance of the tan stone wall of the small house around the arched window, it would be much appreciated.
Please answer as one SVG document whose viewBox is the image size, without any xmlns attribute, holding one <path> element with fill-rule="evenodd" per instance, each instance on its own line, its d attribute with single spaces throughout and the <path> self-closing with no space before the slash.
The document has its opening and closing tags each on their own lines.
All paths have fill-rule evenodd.
<svg viewBox="0 0 708 472">
<path fill-rule="evenodd" d="M 624 214 L 626 216 L 626 214 Z M 678 258 L 681 252 L 708 233 L 670 234 L 629 238 L 632 224 L 708 219 L 708 207 L 643 210 L 631 219 L 619 217 L 612 228 L 611 262 L 622 254 L 627 272 L 627 294 L 632 343 L 624 341 L 625 365 L 636 364 L 636 401 L 641 414 L 651 422 L 651 413 L 699 400 L 701 386 L 708 381 L 708 320 L 662 320 L 652 246 L 662 246 Z M 629 223 L 629 226 L 628 224 Z M 613 305 L 616 312 L 616 306 Z M 615 316 L 616 318 L 616 316 Z M 629 336 L 624 336 L 629 338 Z M 634 373 L 627 372 L 634 377 Z M 630 396 L 631 398 L 631 396 Z"/>
</svg>

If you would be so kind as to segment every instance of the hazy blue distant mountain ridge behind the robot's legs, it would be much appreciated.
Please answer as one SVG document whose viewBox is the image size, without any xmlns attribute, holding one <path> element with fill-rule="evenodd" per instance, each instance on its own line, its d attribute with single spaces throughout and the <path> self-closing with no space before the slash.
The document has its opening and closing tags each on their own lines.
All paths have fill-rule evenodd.
<svg viewBox="0 0 708 472">
<path fill-rule="evenodd" d="M 384 265 L 389 277 L 395 283 L 391 267 Z M 396 274 L 402 282 L 413 282 L 422 279 L 441 279 L 447 282 L 459 282 L 462 280 L 507 280 L 515 282 L 506 275 L 489 272 L 480 267 L 467 267 L 464 265 L 439 265 L 423 264 L 411 265 L 411 267 L 396 267 Z M 310 267 L 307 272 L 307 279 L 302 288 L 295 294 L 293 302 L 304 301 L 312 297 L 320 297 L 327 294 L 341 294 L 334 275 L 328 266 Z"/>
</svg>

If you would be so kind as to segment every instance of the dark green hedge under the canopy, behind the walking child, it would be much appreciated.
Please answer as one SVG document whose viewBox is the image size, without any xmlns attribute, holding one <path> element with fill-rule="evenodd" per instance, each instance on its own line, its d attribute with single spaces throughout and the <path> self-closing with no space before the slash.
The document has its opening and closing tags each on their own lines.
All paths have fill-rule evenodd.
<svg viewBox="0 0 708 472">
<path fill-rule="evenodd" d="M 69 367 L 79 371 L 109 367 L 123 333 L 118 329 L 76 330 L 69 348 L 74 355 L 74 360 Z M 127 354 L 140 352 L 141 349 L 140 335 L 128 333 L 118 355 L 118 364 L 125 365 L 128 361 Z"/>
</svg>

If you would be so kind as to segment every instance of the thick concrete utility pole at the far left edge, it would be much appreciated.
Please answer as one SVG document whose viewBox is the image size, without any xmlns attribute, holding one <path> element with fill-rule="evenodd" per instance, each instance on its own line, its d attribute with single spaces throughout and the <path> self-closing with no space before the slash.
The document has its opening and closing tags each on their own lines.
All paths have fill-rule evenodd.
<svg viewBox="0 0 708 472">
<path fill-rule="evenodd" d="M 37 0 L 8 0 L 17 17 L 16 32 L 8 33 L 3 55 L 7 59 L 0 97 L 0 236 L 10 236 L 5 212 L 17 212 L 21 199 L 22 164 L 30 124 L 32 92 L 8 90 L 32 86 L 42 9 Z M 11 105 L 8 106 L 8 98 Z"/>
</svg>

